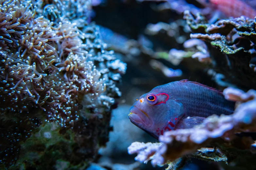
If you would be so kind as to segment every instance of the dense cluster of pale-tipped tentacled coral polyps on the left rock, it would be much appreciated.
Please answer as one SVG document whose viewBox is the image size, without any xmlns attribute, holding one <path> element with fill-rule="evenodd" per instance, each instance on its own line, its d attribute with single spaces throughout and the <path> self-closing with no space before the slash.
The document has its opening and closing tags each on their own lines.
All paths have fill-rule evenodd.
<svg viewBox="0 0 256 170">
<path fill-rule="evenodd" d="M 99 96 L 106 89 L 106 79 L 100 79 L 102 75 L 90 61 L 85 49 L 88 45 L 82 41 L 85 34 L 76 23 L 68 19 L 54 23 L 37 17 L 35 8 L 28 2 L 2 1 L 2 30 L 10 34 L 2 38 L 8 51 L 1 51 L 1 103 L 7 104 L 1 110 L 23 112 L 35 106 L 47 113 L 48 120 L 58 121 L 62 126 L 67 120 L 73 124 L 68 116 L 72 115 L 71 107 L 77 105 L 77 96 Z M 9 50 L 14 42 L 15 48 Z M 78 116 L 75 117 L 77 120 Z"/>
</svg>

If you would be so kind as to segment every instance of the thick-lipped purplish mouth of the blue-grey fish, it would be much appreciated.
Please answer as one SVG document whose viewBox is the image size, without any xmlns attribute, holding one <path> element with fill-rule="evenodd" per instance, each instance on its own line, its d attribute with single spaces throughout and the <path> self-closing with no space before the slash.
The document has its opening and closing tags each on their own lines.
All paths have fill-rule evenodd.
<svg viewBox="0 0 256 170">
<path fill-rule="evenodd" d="M 135 125 L 141 124 L 141 125 L 144 125 L 145 127 L 152 125 L 152 121 L 147 115 L 147 113 L 137 108 L 136 106 L 131 106 L 130 114 L 128 115 L 128 118 Z"/>
</svg>

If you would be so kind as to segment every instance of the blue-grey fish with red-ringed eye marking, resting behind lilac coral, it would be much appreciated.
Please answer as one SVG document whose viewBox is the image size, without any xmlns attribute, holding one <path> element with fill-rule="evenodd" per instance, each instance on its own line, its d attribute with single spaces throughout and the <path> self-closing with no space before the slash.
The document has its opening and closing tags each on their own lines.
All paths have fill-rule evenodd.
<svg viewBox="0 0 256 170">
<path fill-rule="evenodd" d="M 131 106 L 128 118 L 158 139 L 166 131 L 189 129 L 215 115 L 230 115 L 235 102 L 222 91 L 187 79 L 170 82 L 143 94 Z"/>
</svg>

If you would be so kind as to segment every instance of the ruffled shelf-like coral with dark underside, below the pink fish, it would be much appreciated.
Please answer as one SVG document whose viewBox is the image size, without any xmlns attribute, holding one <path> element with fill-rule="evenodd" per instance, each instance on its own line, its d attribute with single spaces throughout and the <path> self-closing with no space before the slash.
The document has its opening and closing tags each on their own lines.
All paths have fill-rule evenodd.
<svg viewBox="0 0 256 170">
<path fill-rule="evenodd" d="M 190 37 L 205 42 L 211 67 L 223 75 L 227 84 L 236 84 L 247 90 L 255 88 L 254 20 L 242 16 L 209 24 L 201 14 L 193 15 L 189 11 L 184 12 L 184 18 L 193 32 Z M 201 59 L 200 56 L 197 58 Z"/>
</svg>

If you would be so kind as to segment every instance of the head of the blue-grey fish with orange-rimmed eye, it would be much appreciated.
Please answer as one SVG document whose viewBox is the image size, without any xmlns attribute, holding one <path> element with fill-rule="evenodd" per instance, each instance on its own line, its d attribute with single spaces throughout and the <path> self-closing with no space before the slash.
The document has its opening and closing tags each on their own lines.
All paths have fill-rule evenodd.
<svg viewBox="0 0 256 170">
<path fill-rule="evenodd" d="M 161 129 L 170 119 L 169 95 L 153 89 L 143 94 L 130 108 L 128 118 L 130 121 L 145 130 L 149 134 L 157 134 L 156 130 Z"/>
</svg>

